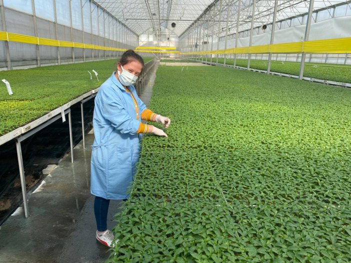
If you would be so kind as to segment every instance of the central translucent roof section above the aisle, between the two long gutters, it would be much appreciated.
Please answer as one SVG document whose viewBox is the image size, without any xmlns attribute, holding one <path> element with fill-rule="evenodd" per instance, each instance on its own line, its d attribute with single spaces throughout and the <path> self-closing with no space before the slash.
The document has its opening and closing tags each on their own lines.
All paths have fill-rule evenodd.
<svg viewBox="0 0 351 263">
<path fill-rule="evenodd" d="M 138 35 L 160 27 L 180 35 L 213 0 L 94 0 Z M 175 27 L 172 27 L 175 23 Z"/>
</svg>

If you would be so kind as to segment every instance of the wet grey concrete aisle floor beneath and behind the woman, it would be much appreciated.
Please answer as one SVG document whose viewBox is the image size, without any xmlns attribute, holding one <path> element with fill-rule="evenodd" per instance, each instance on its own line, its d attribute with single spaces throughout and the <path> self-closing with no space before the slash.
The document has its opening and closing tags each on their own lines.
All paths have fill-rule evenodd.
<svg viewBox="0 0 351 263">
<path fill-rule="evenodd" d="M 148 105 L 155 70 L 140 98 Z M 0 263 L 101 263 L 108 249 L 95 240 L 93 196 L 90 194 L 90 145 L 93 134 L 85 136 L 73 150 L 74 163 L 67 154 L 28 196 L 29 218 L 19 207 L 0 227 Z M 114 214 L 122 201 L 111 201 L 107 226 L 116 224 Z"/>
</svg>

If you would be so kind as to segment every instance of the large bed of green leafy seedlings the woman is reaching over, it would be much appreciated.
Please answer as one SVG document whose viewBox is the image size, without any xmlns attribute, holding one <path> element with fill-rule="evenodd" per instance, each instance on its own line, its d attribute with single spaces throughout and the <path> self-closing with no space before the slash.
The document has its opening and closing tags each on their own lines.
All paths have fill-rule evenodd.
<svg viewBox="0 0 351 263">
<path fill-rule="evenodd" d="M 351 91 L 225 67 L 159 67 L 108 262 L 349 262 Z"/>
</svg>

